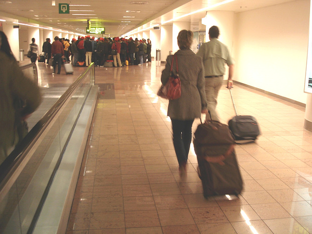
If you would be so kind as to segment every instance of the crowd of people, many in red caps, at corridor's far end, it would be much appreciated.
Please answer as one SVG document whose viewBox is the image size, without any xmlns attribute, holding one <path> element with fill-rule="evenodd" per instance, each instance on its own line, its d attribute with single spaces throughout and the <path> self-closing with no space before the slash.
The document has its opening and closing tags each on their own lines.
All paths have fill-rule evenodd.
<svg viewBox="0 0 312 234">
<path fill-rule="evenodd" d="M 58 38 L 56 40 L 56 38 Z M 125 39 L 125 38 L 99 38 L 85 36 L 78 39 L 69 39 L 56 37 L 55 41 L 61 42 L 63 51 L 57 51 L 61 54 L 61 62 L 71 62 L 73 66 L 89 66 L 94 62 L 96 66 L 104 66 L 106 61 L 113 62 L 114 66 L 122 67 L 125 65 L 143 65 L 146 62 L 152 62 L 151 51 L 152 42 L 150 39 Z M 53 42 L 57 44 L 57 42 Z M 52 45 L 53 45 L 52 43 Z M 50 58 L 55 57 L 55 52 L 51 51 L 52 46 L 49 38 L 42 45 L 47 63 Z M 37 48 L 35 51 L 33 48 Z M 38 54 L 38 47 L 34 42 L 30 44 L 30 50 L 33 55 Z M 32 58 L 32 62 L 35 56 Z M 34 61 L 33 61 L 34 60 Z M 57 59 L 59 61 L 59 56 Z M 58 64 L 58 62 L 54 62 Z"/>
</svg>

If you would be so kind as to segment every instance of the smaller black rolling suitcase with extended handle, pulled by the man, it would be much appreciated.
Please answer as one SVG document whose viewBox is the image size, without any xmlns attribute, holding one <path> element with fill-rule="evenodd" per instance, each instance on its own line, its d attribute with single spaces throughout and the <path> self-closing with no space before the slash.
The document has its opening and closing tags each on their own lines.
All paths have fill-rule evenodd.
<svg viewBox="0 0 312 234">
<path fill-rule="evenodd" d="M 257 120 L 253 116 L 239 116 L 237 114 L 231 89 L 230 94 L 236 116 L 229 120 L 229 128 L 233 133 L 236 143 L 254 141 L 260 135 Z"/>
</svg>

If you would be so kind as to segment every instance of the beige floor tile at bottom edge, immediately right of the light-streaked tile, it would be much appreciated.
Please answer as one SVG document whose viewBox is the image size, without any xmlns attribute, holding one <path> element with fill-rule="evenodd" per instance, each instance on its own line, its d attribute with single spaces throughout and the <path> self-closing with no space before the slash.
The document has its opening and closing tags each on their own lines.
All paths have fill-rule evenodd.
<svg viewBox="0 0 312 234">
<path fill-rule="evenodd" d="M 302 233 L 309 234 L 294 218 L 264 220 L 274 234 Z"/>
</svg>

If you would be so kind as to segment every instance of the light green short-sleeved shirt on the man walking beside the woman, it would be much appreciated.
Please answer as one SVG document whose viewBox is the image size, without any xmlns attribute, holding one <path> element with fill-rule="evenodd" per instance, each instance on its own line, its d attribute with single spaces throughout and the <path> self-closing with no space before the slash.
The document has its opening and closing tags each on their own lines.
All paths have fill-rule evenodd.
<svg viewBox="0 0 312 234">
<path fill-rule="evenodd" d="M 197 55 L 203 59 L 205 77 L 224 75 L 224 64 L 226 63 L 228 66 L 234 64 L 228 47 L 216 38 L 203 43 Z"/>
</svg>

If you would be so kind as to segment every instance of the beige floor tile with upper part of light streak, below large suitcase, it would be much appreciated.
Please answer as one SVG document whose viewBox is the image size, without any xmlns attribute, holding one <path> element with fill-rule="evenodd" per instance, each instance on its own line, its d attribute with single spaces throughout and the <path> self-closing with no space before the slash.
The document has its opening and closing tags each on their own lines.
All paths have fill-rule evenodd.
<svg viewBox="0 0 312 234">
<path fill-rule="evenodd" d="M 221 206 L 221 209 L 230 222 L 245 221 L 247 217 L 249 220 L 260 219 L 250 205 Z"/>
</svg>

